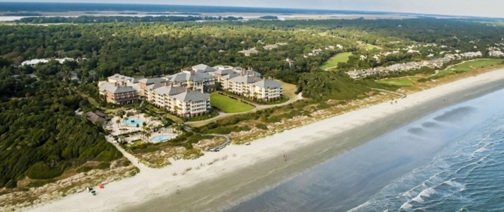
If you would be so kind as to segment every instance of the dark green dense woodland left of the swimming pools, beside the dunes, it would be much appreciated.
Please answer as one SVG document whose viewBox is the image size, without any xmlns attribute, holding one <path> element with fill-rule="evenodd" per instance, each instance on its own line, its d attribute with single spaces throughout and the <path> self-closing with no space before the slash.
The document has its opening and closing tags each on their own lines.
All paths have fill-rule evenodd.
<svg viewBox="0 0 504 212">
<path fill-rule="evenodd" d="M 89 160 L 122 157 L 101 127 L 75 114 L 89 105 L 74 91 L 75 81 L 51 73 L 47 80 L 14 77 L 8 64 L 0 60 L 0 187 L 16 187 L 24 177 L 52 179 Z"/>
</svg>

